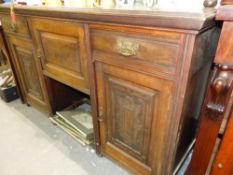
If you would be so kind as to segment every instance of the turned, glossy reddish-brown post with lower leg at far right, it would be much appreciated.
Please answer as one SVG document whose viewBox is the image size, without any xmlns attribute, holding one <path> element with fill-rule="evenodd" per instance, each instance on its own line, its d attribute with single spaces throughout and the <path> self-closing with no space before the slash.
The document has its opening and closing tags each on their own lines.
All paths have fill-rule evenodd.
<svg viewBox="0 0 233 175">
<path fill-rule="evenodd" d="M 203 175 L 206 173 L 224 115 L 229 113 L 227 106 L 232 89 L 232 69 L 216 65 L 203 104 L 201 125 L 196 138 L 192 161 L 186 172 L 187 175 Z"/>
</svg>

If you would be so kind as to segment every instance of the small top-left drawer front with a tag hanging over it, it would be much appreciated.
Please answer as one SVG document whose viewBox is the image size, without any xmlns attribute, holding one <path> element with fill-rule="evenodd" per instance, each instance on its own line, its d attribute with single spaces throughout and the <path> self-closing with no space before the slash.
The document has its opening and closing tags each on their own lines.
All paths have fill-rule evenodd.
<svg viewBox="0 0 233 175">
<path fill-rule="evenodd" d="M 15 35 L 23 35 L 26 37 L 30 37 L 27 19 L 23 16 L 16 16 L 16 25 L 12 25 L 12 20 L 10 15 L 0 15 L 0 20 L 2 23 L 2 27 L 4 32 L 11 33 Z"/>
</svg>

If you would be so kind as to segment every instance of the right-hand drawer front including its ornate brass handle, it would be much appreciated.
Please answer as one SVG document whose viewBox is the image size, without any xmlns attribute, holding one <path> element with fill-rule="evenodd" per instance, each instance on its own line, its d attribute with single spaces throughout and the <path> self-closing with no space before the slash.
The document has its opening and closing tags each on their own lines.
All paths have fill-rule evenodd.
<svg viewBox="0 0 233 175">
<path fill-rule="evenodd" d="M 174 74 L 182 51 L 182 35 L 172 32 L 93 27 L 91 36 L 93 59 L 146 72 Z"/>
</svg>

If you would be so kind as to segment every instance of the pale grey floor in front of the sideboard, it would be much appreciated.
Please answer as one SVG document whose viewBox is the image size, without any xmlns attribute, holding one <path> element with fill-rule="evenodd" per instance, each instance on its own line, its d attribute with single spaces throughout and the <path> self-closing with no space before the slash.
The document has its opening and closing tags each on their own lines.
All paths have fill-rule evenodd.
<svg viewBox="0 0 233 175">
<path fill-rule="evenodd" d="M 19 100 L 0 99 L 0 128 L 0 175 L 130 175 Z"/>
</svg>

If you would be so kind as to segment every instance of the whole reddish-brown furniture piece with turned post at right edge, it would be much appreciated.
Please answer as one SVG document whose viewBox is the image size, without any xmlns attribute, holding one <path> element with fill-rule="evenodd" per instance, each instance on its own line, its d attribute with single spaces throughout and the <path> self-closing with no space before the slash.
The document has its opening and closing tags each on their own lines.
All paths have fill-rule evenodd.
<svg viewBox="0 0 233 175">
<path fill-rule="evenodd" d="M 231 9 L 231 11 L 230 11 Z M 193 157 L 187 175 L 203 175 L 210 169 L 210 174 L 231 175 L 233 173 L 232 156 L 232 90 L 233 90 L 233 6 L 222 6 L 218 9 L 217 19 L 223 21 L 217 53 L 214 59 L 215 67 L 209 80 L 205 103 L 202 107 L 201 124 L 194 147 Z M 230 119 L 229 119 L 230 118 Z M 223 119 L 230 123 L 223 134 L 219 153 L 213 153 L 220 133 Z M 231 139 L 229 140 L 229 138 Z M 214 164 L 212 165 L 212 159 Z M 213 166 L 213 167 L 212 167 Z M 213 168 L 213 169 L 212 169 Z M 212 169 L 212 172 L 211 172 Z"/>
</svg>

